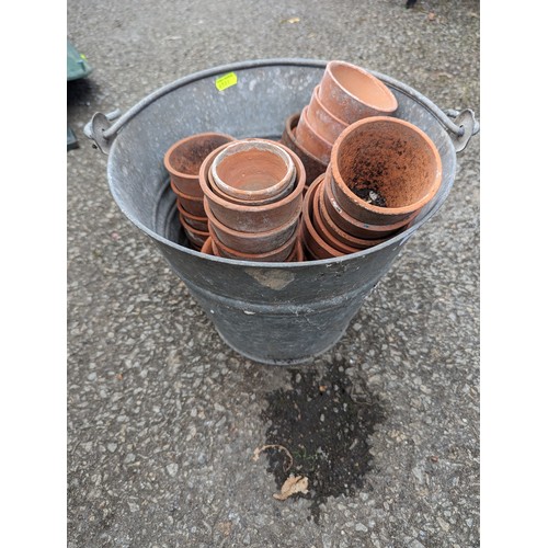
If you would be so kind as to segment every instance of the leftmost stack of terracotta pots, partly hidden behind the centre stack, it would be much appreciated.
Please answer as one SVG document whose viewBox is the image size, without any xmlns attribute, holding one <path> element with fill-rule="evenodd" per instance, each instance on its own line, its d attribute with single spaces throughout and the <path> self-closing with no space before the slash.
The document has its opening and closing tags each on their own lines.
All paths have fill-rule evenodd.
<svg viewBox="0 0 548 548">
<path fill-rule="evenodd" d="M 179 220 L 195 250 L 201 250 L 209 236 L 204 193 L 198 181 L 199 167 L 209 152 L 232 140 L 229 135 L 219 133 L 191 135 L 174 142 L 163 157 L 176 196 Z"/>
</svg>

